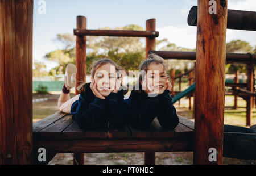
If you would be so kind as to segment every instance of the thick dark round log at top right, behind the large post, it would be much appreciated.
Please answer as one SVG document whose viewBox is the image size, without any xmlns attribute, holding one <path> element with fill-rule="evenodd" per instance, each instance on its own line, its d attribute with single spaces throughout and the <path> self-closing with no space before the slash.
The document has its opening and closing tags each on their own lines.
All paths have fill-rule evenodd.
<svg viewBox="0 0 256 176">
<path fill-rule="evenodd" d="M 197 24 L 197 6 L 193 6 L 188 14 L 188 25 Z M 233 30 L 256 31 L 256 12 L 228 9 L 227 28 Z"/>
</svg>

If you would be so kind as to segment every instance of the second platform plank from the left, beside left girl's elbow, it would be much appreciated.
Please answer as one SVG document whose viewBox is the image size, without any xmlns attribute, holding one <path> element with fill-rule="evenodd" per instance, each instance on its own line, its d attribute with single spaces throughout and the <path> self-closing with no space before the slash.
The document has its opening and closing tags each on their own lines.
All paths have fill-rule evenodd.
<svg viewBox="0 0 256 176">
<path fill-rule="evenodd" d="M 38 136 L 50 139 L 60 139 L 62 132 L 73 122 L 72 115 L 67 114 L 63 118 L 55 121 L 48 127 L 38 132 Z"/>
</svg>

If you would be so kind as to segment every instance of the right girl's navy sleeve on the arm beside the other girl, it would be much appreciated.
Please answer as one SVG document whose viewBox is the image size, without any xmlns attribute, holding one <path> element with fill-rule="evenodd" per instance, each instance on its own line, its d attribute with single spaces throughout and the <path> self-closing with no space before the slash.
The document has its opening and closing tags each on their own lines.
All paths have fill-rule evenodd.
<svg viewBox="0 0 256 176">
<path fill-rule="evenodd" d="M 131 124 L 137 128 L 146 128 L 158 115 L 159 97 L 146 97 L 142 102 L 141 96 L 141 93 L 131 91 L 129 97 Z"/>
</svg>

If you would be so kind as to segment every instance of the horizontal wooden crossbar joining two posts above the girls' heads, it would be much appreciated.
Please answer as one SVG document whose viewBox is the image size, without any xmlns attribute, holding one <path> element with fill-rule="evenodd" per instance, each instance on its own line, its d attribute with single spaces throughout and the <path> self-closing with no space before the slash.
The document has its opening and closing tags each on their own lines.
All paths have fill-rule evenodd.
<svg viewBox="0 0 256 176">
<path fill-rule="evenodd" d="M 131 30 L 86 30 L 77 28 L 74 30 L 77 36 L 115 36 L 115 37 L 158 37 L 159 32 L 151 31 L 131 31 Z"/>
</svg>

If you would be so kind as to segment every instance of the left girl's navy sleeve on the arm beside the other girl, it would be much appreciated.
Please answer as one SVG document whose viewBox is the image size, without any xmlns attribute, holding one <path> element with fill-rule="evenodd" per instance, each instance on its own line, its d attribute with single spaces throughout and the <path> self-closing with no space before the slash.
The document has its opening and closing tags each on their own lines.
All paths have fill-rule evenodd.
<svg viewBox="0 0 256 176">
<path fill-rule="evenodd" d="M 110 113 L 110 128 L 123 128 L 129 118 L 129 107 L 123 100 L 123 95 L 112 92 L 106 99 L 108 100 L 108 111 Z"/>
</svg>

